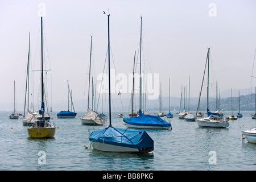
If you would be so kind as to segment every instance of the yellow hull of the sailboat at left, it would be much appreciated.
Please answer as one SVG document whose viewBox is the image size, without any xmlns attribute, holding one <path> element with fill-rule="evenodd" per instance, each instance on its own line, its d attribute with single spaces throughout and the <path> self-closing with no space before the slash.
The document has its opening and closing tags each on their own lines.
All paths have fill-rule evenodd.
<svg viewBox="0 0 256 182">
<path fill-rule="evenodd" d="M 55 135 L 56 127 L 45 128 L 45 127 L 35 127 L 27 129 L 28 135 L 33 138 L 51 138 Z"/>
</svg>

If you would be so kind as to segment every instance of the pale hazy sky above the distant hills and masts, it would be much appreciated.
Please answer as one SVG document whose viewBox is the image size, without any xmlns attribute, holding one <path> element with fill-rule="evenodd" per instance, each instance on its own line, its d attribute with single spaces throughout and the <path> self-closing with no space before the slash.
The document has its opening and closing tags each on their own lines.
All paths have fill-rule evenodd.
<svg viewBox="0 0 256 182">
<path fill-rule="evenodd" d="M 142 67 L 147 73 L 159 74 L 163 96 L 168 96 L 170 78 L 171 96 L 180 97 L 181 85 L 188 85 L 189 76 L 191 97 L 198 96 L 208 47 L 210 79 L 211 82 L 218 80 L 218 88 L 230 90 L 256 86 L 256 80 L 250 85 L 256 48 L 255 0 L 2 0 L 0 100 L 4 106 L 1 109 L 12 109 L 14 80 L 16 102 L 24 102 L 29 32 L 31 67 L 34 71 L 40 69 L 40 3 L 45 5 L 43 24 L 47 47 L 45 43 L 44 50 L 46 69 L 51 69 L 47 82 L 52 85 L 48 94 L 52 95 L 53 105 L 67 98 L 67 80 L 73 99 L 82 99 L 84 93 L 87 94 L 90 35 L 93 35 L 94 79 L 103 72 L 108 46 L 108 18 L 103 11 L 110 13 L 110 46 L 117 74 L 122 73 L 128 78 L 133 72 L 134 52 L 138 55 L 139 48 L 140 16 L 143 16 Z M 254 73 L 256 76 L 256 68 Z M 37 98 L 39 72 L 33 72 L 33 75 L 34 97 Z M 216 85 L 212 88 L 215 90 Z M 126 96 L 129 95 L 123 94 Z"/>
</svg>

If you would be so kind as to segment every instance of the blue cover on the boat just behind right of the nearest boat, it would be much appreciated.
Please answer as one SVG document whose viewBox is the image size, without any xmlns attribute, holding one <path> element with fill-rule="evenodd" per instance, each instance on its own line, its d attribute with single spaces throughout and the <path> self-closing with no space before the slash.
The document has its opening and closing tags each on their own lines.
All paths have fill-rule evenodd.
<svg viewBox="0 0 256 182">
<path fill-rule="evenodd" d="M 171 123 L 164 121 L 158 115 L 146 115 L 143 114 L 141 110 L 139 110 L 139 116 L 123 118 L 123 121 L 130 125 L 137 126 L 162 126 L 167 128 L 172 127 Z"/>
</svg>

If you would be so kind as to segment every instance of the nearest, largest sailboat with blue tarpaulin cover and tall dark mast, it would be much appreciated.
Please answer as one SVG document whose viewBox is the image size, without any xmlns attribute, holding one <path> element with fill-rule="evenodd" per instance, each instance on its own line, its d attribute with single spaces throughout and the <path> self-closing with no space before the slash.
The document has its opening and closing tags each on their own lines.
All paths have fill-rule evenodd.
<svg viewBox="0 0 256 182">
<path fill-rule="evenodd" d="M 104 12 L 105 14 L 105 12 Z M 109 61 L 109 127 L 90 133 L 89 140 L 93 148 L 104 152 L 142 152 L 154 150 L 154 140 L 146 131 L 121 129 L 112 126 L 110 92 L 110 41 L 108 16 L 108 61 Z"/>
</svg>

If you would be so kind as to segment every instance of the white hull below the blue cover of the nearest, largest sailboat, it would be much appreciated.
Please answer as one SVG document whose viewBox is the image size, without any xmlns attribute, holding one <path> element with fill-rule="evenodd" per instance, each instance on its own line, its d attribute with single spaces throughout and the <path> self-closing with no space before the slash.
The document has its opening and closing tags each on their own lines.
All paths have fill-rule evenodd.
<svg viewBox="0 0 256 182">
<path fill-rule="evenodd" d="M 130 148 L 123 146 L 115 146 L 113 144 L 106 144 L 100 142 L 90 142 L 95 150 L 104 152 L 139 152 L 138 148 Z"/>
</svg>

